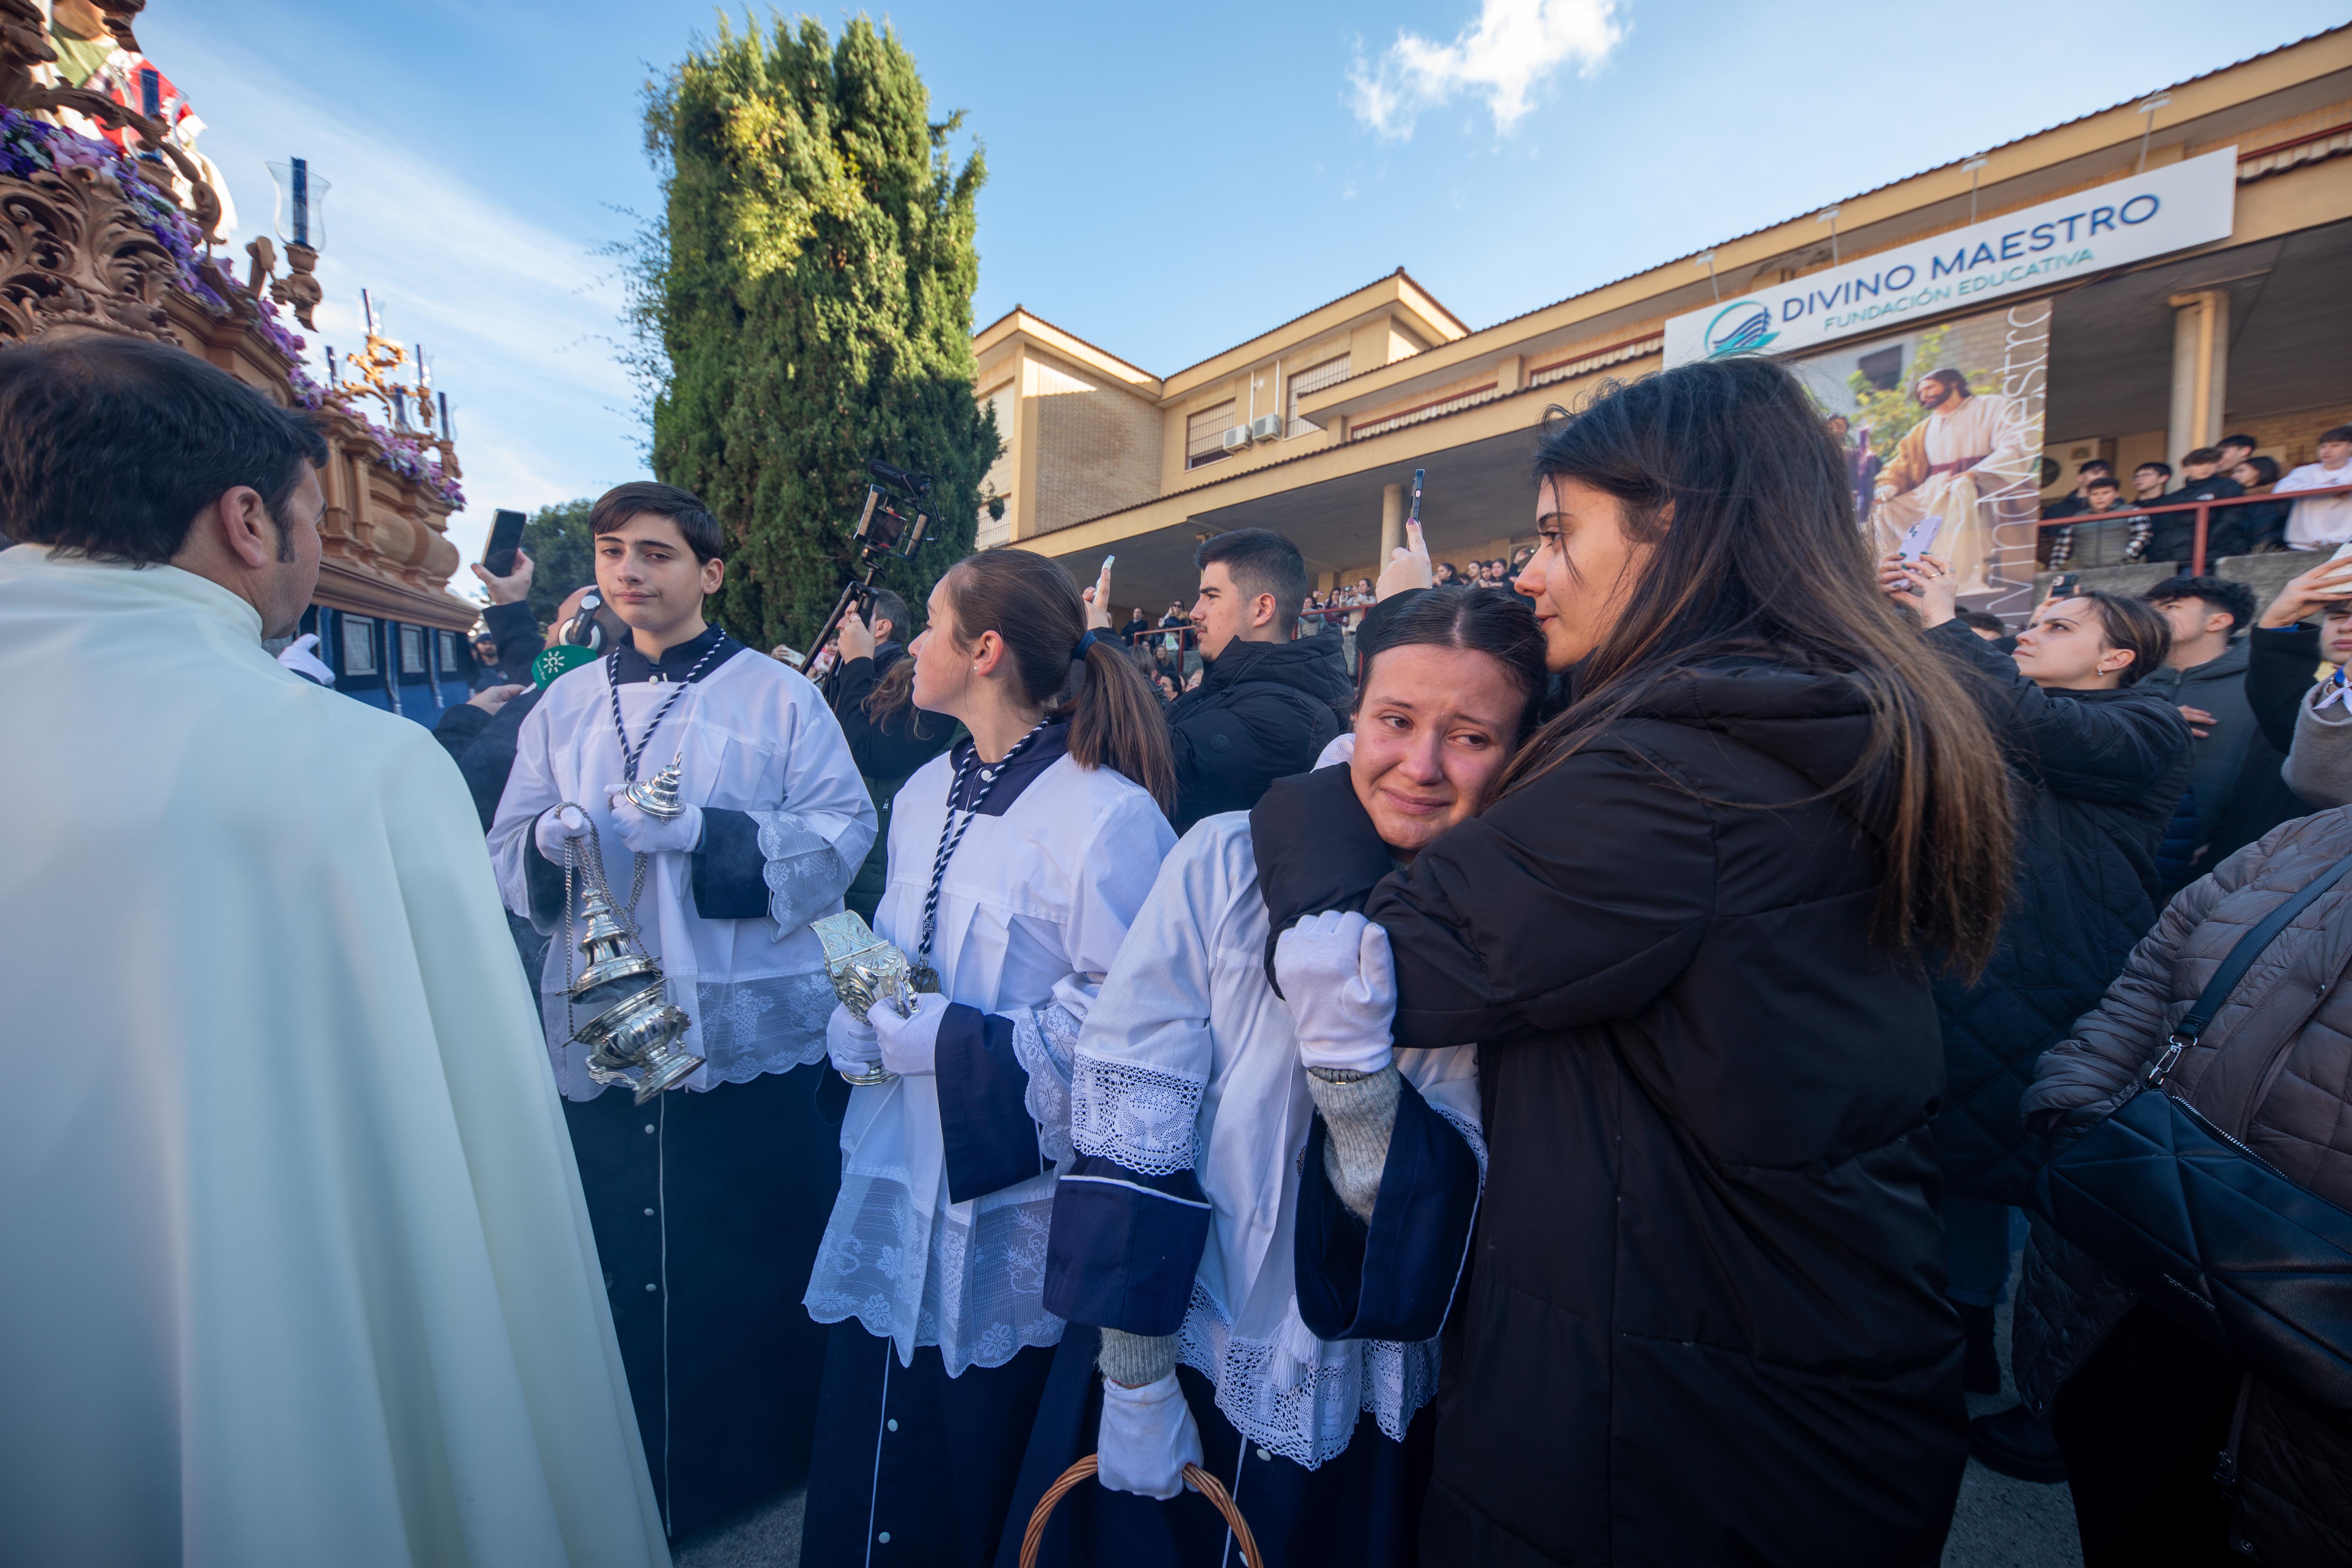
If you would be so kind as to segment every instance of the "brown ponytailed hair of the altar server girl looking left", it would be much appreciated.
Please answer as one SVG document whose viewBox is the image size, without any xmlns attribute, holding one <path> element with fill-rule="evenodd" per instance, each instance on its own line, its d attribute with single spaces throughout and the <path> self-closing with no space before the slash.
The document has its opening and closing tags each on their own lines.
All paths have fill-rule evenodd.
<svg viewBox="0 0 2352 1568">
<path fill-rule="evenodd" d="M 1004 639 L 1021 693 L 1044 705 L 1044 717 L 1070 722 L 1070 757 L 1080 766 L 1124 773 L 1160 811 L 1176 809 L 1176 755 L 1160 698 L 1115 637 L 1077 658 L 1087 602 L 1061 567 L 1028 550 L 983 550 L 941 581 L 962 642 L 981 632 Z"/>
</svg>

